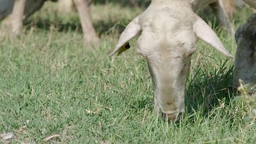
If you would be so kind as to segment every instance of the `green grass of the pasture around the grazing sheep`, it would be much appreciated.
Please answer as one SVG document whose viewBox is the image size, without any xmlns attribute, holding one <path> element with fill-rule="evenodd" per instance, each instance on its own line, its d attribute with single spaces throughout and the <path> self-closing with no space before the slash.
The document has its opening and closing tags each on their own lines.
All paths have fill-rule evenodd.
<svg viewBox="0 0 256 144">
<path fill-rule="evenodd" d="M 248 101 L 232 100 L 234 59 L 199 41 L 186 86 L 186 116 L 180 123 L 164 122 L 152 111 L 154 90 L 136 39 L 122 56 L 108 58 L 124 26 L 144 8 L 92 5 L 102 40 L 96 48 L 83 45 L 76 12 L 65 17 L 54 8 L 36 12 L 19 38 L 0 38 L 0 134 L 14 134 L 0 143 L 256 142 L 254 121 L 245 120 Z M 249 15 L 247 8 L 239 10 L 235 27 Z M 233 36 L 214 30 L 234 55 Z"/>
</svg>

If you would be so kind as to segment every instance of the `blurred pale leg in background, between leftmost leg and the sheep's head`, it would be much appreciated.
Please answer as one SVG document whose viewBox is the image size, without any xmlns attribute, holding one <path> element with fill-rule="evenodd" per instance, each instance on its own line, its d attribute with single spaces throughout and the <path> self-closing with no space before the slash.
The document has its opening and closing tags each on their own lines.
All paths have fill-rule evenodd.
<svg viewBox="0 0 256 144">
<path fill-rule="evenodd" d="M 76 5 L 76 9 L 79 14 L 85 42 L 92 42 L 94 44 L 98 43 L 100 39 L 98 38 L 92 25 L 87 0 L 73 0 L 73 2 Z"/>
</svg>

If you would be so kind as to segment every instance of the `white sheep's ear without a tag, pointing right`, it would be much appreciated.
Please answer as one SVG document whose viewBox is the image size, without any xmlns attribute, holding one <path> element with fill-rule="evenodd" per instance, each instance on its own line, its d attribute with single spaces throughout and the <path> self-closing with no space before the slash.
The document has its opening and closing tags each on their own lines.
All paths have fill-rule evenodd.
<svg viewBox="0 0 256 144">
<path fill-rule="evenodd" d="M 198 38 L 210 44 L 226 56 L 233 58 L 233 56 L 224 48 L 215 32 L 206 24 L 206 22 L 204 22 L 204 20 L 198 18 L 198 20 L 193 24 L 193 31 Z"/>
</svg>

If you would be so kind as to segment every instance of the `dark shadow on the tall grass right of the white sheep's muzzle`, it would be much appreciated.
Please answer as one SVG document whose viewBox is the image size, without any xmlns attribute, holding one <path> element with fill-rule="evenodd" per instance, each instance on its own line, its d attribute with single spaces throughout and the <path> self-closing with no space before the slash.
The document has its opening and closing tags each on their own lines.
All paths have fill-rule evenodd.
<svg viewBox="0 0 256 144">
<path fill-rule="evenodd" d="M 188 82 L 185 92 L 188 113 L 201 109 L 205 116 L 213 108 L 230 103 L 235 95 L 232 87 L 234 65 L 227 65 L 227 61 L 228 59 L 218 69 L 212 70 L 209 66 L 202 66 L 194 72 L 194 78 Z"/>
</svg>

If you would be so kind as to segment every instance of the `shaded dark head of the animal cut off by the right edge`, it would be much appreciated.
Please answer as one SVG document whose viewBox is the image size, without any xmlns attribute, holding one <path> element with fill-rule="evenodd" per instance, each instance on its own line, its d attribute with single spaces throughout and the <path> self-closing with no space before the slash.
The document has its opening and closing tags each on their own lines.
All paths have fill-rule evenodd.
<svg viewBox="0 0 256 144">
<path fill-rule="evenodd" d="M 246 84 L 256 84 L 256 13 L 236 30 L 235 39 L 237 49 L 233 86 L 239 86 L 239 79 Z"/>
</svg>

